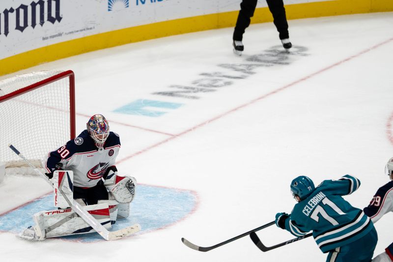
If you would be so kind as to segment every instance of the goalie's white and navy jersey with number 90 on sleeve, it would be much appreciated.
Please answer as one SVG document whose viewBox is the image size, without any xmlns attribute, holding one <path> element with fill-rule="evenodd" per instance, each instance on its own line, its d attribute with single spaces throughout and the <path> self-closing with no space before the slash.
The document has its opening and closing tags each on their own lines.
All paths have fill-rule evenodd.
<svg viewBox="0 0 393 262">
<path fill-rule="evenodd" d="M 53 172 L 60 163 L 62 170 L 74 172 L 75 186 L 89 188 L 100 181 L 108 167 L 114 166 L 119 149 L 120 139 L 116 133 L 110 132 L 104 147 L 98 149 L 84 130 L 65 146 L 50 152 L 44 166 L 48 172 Z"/>
</svg>

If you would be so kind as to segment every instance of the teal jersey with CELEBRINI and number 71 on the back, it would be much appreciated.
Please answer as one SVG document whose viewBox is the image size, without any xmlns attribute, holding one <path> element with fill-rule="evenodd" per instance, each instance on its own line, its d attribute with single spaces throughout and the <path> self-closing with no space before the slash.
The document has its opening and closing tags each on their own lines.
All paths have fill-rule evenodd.
<svg viewBox="0 0 393 262">
<path fill-rule="evenodd" d="M 312 231 L 323 253 L 358 240 L 374 225 L 363 210 L 353 207 L 342 196 L 359 186 L 360 180 L 352 175 L 323 181 L 308 198 L 294 206 L 285 220 L 285 229 L 296 236 Z"/>
</svg>

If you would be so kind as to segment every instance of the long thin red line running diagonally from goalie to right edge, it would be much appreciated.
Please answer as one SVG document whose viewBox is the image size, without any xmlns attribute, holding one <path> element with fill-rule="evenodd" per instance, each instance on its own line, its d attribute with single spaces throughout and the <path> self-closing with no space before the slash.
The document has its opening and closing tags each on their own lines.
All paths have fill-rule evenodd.
<svg viewBox="0 0 393 262">
<path fill-rule="evenodd" d="M 345 62 L 347 62 L 347 61 L 350 61 L 350 60 L 352 60 L 352 59 L 354 59 L 354 58 L 357 58 L 357 57 L 359 57 L 359 56 L 361 56 L 361 55 L 363 55 L 363 54 L 366 54 L 366 53 L 368 53 L 368 52 L 370 52 L 370 51 L 372 51 L 372 50 L 374 50 L 374 49 L 377 49 L 378 47 L 380 47 L 380 46 L 382 46 L 382 45 L 385 45 L 385 44 L 391 42 L 392 40 L 393 40 L 393 37 L 390 38 L 390 39 L 388 39 L 388 40 L 386 40 L 386 41 L 383 41 L 383 42 L 381 42 L 381 43 L 379 43 L 379 44 L 376 44 L 376 45 L 374 45 L 374 46 L 372 46 L 372 47 L 370 47 L 370 48 L 367 48 L 367 49 L 363 50 L 362 52 L 360 52 L 360 53 L 358 53 L 358 54 L 356 54 L 356 55 L 353 55 L 353 56 L 350 56 L 350 57 L 348 57 L 348 58 L 345 58 L 345 59 L 343 59 L 343 60 L 341 60 L 341 61 L 338 61 L 337 63 L 334 63 L 334 64 L 332 64 L 332 65 L 329 65 L 329 66 L 327 66 L 327 67 L 325 67 L 325 68 L 323 68 L 323 69 L 321 69 L 321 70 L 318 70 L 318 71 L 316 71 L 316 72 L 314 72 L 314 73 L 312 73 L 312 74 L 309 74 L 308 76 L 306 76 L 306 77 L 304 77 L 304 78 L 301 78 L 301 79 L 299 79 L 299 80 L 296 80 L 295 82 L 292 82 L 292 83 L 290 83 L 290 84 L 288 84 L 288 85 L 286 85 L 286 86 L 280 87 L 280 88 L 278 88 L 278 89 L 276 89 L 276 90 L 274 90 L 274 91 L 271 91 L 271 92 L 269 92 L 269 93 L 267 93 L 267 94 L 264 94 L 264 95 L 262 95 L 262 96 L 260 96 L 260 97 L 258 97 L 258 98 L 255 98 L 255 99 L 251 100 L 250 102 L 248 102 L 248 103 L 246 103 L 246 104 L 240 105 L 240 106 L 238 106 L 238 107 L 236 107 L 236 108 L 233 108 L 233 109 L 231 109 L 231 110 L 229 110 L 229 111 L 226 111 L 225 113 L 223 113 L 223 114 L 221 114 L 221 115 L 218 115 L 218 116 L 215 116 L 215 117 L 213 117 L 213 118 L 211 118 L 211 119 L 209 119 L 209 120 L 206 120 L 206 121 L 204 121 L 204 122 L 202 122 L 202 123 L 200 123 L 200 124 L 198 124 L 198 125 L 196 125 L 196 126 L 194 126 L 194 127 L 192 127 L 192 128 L 189 128 L 189 129 L 187 129 L 187 130 L 185 130 L 185 131 L 183 131 L 183 132 L 181 132 L 181 133 L 179 133 L 179 134 L 177 134 L 177 135 L 172 135 L 171 137 L 169 137 L 169 138 L 167 138 L 167 139 L 165 139 L 165 140 L 163 140 L 163 141 L 161 141 L 161 142 L 158 142 L 158 143 L 156 143 L 156 144 L 154 144 L 154 145 L 152 145 L 152 146 L 148 146 L 148 147 L 146 147 L 146 148 L 144 148 L 144 149 L 142 149 L 142 150 L 140 150 L 140 151 L 138 151 L 138 152 L 136 152 L 136 153 L 134 153 L 134 154 L 131 154 L 131 155 L 129 155 L 129 156 L 126 156 L 125 158 L 120 159 L 119 161 L 117 161 L 117 163 L 121 163 L 121 162 L 126 161 L 126 160 L 128 160 L 128 159 L 130 159 L 130 158 L 133 158 L 134 156 L 140 155 L 141 153 L 144 153 L 144 152 L 146 152 L 146 151 L 148 151 L 148 150 L 150 150 L 150 149 L 152 149 L 152 148 L 154 148 L 154 147 L 157 147 L 157 146 L 160 146 L 160 145 L 162 145 L 162 144 L 165 144 L 165 143 L 167 143 L 168 141 L 171 141 L 171 140 L 173 140 L 173 139 L 175 139 L 175 138 L 178 138 L 178 137 L 180 137 L 180 136 L 182 136 L 182 135 L 185 135 L 185 134 L 187 134 L 187 133 L 189 133 L 189 132 L 191 132 L 191 131 L 194 131 L 194 130 L 198 129 L 199 127 L 202 127 L 202 126 L 204 126 L 204 125 L 206 125 L 206 124 L 208 124 L 208 123 L 210 123 L 210 122 L 213 122 L 213 121 L 215 121 L 215 120 L 217 120 L 217 119 L 220 119 L 220 118 L 222 118 L 222 117 L 224 117 L 224 116 L 227 116 L 227 115 L 229 115 L 230 113 L 233 113 L 233 112 L 235 112 L 235 111 L 238 111 L 239 109 L 242 109 L 242 108 L 244 108 L 244 107 L 247 107 L 247 106 L 249 106 L 249 105 L 252 105 L 253 103 L 258 102 L 258 101 L 260 101 L 260 100 L 262 100 L 262 99 L 265 99 L 266 97 L 269 97 L 269 96 L 271 96 L 271 95 L 273 95 L 273 94 L 276 94 L 276 93 L 278 93 L 278 92 L 281 92 L 282 90 L 285 90 L 285 89 L 287 89 L 288 87 L 293 87 L 293 86 L 295 86 L 296 84 L 299 84 L 299 83 L 301 83 L 301 82 L 304 82 L 304 81 L 306 81 L 306 80 L 308 80 L 308 79 L 310 79 L 310 78 L 312 78 L 312 77 L 314 77 L 314 76 L 316 76 L 316 75 L 319 75 L 320 73 L 323 73 L 323 72 L 325 72 L 325 71 L 327 71 L 327 70 L 329 70 L 329 69 L 332 69 L 333 67 L 336 67 L 337 65 L 340 65 L 340 64 L 345 63 Z"/>
</svg>

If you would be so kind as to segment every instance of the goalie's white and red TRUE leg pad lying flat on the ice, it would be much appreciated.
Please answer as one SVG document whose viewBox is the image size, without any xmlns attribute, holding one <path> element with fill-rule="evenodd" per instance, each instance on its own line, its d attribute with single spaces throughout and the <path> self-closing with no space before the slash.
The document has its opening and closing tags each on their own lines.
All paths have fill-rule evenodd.
<svg viewBox="0 0 393 262">
<path fill-rule="evenodd" d="M 109 206 L 107 203 L 86 205 L 83 206 L 83 208 L 106 229 L 112 227 L 110 223 Z M 34 214 L 33 218 L 35 221 L 35 226 L 33 228 L 38 239 L 31 240 L 43 240 L 49 237 L 94 232 L 94 230 L 71 208 L 41 211 Z M 23 237 L 22 234 L 27 235 L 27 231 L 28 230 L 22 232 L 20 236 Z"/>
</svg>

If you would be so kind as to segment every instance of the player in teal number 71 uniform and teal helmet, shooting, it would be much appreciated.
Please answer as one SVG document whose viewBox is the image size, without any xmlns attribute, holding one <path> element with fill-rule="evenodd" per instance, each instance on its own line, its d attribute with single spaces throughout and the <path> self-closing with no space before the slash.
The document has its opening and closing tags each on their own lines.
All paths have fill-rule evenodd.
<svg viewBox="0 0 393 262">
<path fill-rule="evenodd" d="M 327 262 L 369 262 L 378 236 L 363 210 L 353 207 L 342 196 L 357 190 L 360 181 L 352 175 L 325 180 L 316 188 L 307 176 L 291 182 L 296 204 L 291 214 L 277 213 L 276 225 L 295 236 L 312 231 Z"/>
</svg>

